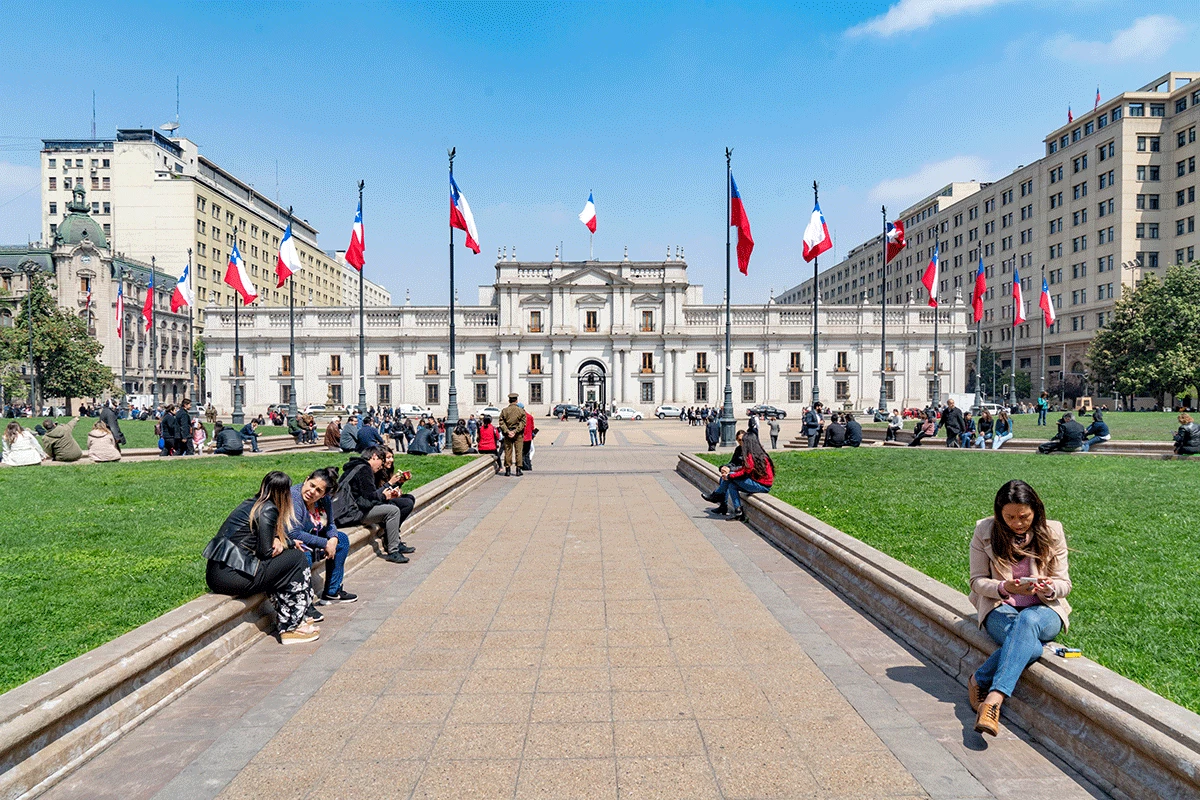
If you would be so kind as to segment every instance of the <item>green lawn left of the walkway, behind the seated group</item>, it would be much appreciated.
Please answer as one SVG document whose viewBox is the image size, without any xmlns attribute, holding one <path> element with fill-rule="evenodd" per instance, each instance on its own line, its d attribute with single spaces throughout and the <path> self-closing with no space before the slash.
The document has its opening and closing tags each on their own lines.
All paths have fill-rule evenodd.
<svg viewBox="0 0 1200 800">
<path fill-rule="evenodd" d="M 341 453 L 0 470 L 0 692 L 206 591 L 200 552 L 264 474 Z M 468 457 L 400 456 L 408 487 Z M 353 589 L 353 587 L 352 587 Z"/>
</svg>

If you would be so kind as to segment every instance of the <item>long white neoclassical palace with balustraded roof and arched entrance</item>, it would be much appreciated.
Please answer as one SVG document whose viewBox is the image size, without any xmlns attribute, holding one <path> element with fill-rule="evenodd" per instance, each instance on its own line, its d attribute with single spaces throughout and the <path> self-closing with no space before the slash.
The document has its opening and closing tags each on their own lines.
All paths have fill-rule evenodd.
<svg viewBox="0 0 1200 800">
<path fill-rule="evenodd" d="M 247 411 L 288 401 L 344 403 L 359 397 L 358 308 L 296 308 L 295 365 L 288 357 L 287 308 L 240 312 Z M 941 391 L 962 391 L 967 306 L 938 320 Z M 665 261 L 517 261 L 500 257 L 496 283 L 479 303 L 456 307 L 456 386 L 462 415 L 500 405 L 510 391 L 535 413 L 557 403 L 716 405 L 725 387 L 725 307 L 703 301 L 682 257 Z M 818 381 L 822 402 L 863 409 L 880 380 L 895 405 L 931 395 L 934 311 L 889 307 L 881 353 L 878 306 L 822 306 Z M 812 309 L 773 300 L 732 308 L 732 386 L 737 413 L 767 403 L 798 413 L 812 393 Z M 222 409 L 233 404 L 233 311 L 208 308 L 206 384 Z M 449 309 L 366 309 L 370 405 L 445 410 L 450 385 Z M 881 374 L 881 355 L 887 368 Z"/>
</svg>

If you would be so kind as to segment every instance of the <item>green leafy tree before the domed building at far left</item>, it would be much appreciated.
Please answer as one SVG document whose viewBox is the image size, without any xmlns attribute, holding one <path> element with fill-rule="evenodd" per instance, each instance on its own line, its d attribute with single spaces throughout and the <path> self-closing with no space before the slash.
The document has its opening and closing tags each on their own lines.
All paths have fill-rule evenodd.
<svg viewBox="0 0 1200 800">
<path fill-rule="evenodd" d="M 98 360 L 103 345 L 88 335 L 86 324 L 59 308 L 50 296 L 46 276 L 30 276 L 29 295 L 12 327 L 0 330 L 0 365 L 29 359 L 29 320 L 34 320 L 34 369 L 41 395 L 62 397 L 71 405 L 74 397 L 95 397 L 113 385 L 113 371 Z"/>
</svg>

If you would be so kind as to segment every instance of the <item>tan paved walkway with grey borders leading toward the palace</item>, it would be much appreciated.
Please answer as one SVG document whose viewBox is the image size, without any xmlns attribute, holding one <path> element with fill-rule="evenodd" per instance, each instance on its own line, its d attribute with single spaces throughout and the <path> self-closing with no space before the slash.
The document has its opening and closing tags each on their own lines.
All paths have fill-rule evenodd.
<svg viewBox="0 0 1200 800">
<path fill-rule="evenodd" d="M 319 643 L 254 645 L 46 796 L 1103 796 L 709 517 L 673 473 L 700 428 L 539 427 Z"/>
</svg>

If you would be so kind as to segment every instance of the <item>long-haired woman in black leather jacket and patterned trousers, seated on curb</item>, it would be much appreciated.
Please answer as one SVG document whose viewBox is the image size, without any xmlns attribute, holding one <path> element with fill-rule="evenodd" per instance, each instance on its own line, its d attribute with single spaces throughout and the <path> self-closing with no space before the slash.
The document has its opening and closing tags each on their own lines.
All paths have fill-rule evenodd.
<svg viewBox="0 0 1200 800">
<path fill-rule="evenodd" d="M 226 428 L 238 435 L 233 428 Z M 316 642 L 320 630 L 305 621 L 312 606 L 312 573 L 302 543 L 288 537 L 292 479 L 272 470 L 256 497 L 242 500 L 204 548 L 204 579 L 218 595 L 250 597 L 265 591 L 275 607 L 281 644 Z"/>
</svg>

